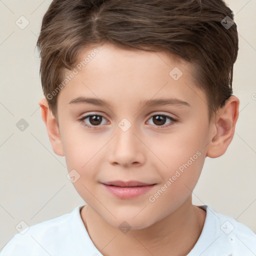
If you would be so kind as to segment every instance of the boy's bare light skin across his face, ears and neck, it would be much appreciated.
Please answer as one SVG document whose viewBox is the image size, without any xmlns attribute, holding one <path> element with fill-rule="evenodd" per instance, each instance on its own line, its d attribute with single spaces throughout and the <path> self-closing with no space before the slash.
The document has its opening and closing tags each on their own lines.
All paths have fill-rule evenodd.
<svg viewBox="0 0 256 256">
<path fill-rule="evenodd" d="M 77 63 L 94 48 L 81 50 Z M 53 151 L 65 156 L 68 172 L 75 169 L 80 175 L 73 185 L 87 203 L 80 212 L 85 228 L 103 255 L 186 255 L 205 220 L 205 211 L 192 205 L 192 190 L 205 157 L 222 155 L 231 142 L 239 100 L 231 96 L 209 122 L 206 96 L 193 82 L 190 63 L 164 51 L 123 49 L 109 43 L 96 48 L 95 57 L 58 92 L 59 126 L 47 100 L 39 102 Z M 183 72 L 178 80 L 169 75 L 174 67 Z M 112 106 L 69 104 L 78 96 L 105 99 Z M 190 106 L 140 103 L 156 98 L 177 98 Z M 78 120 L 87 114 L 102 116 L 101 123 Z M 166 118 L 158 124 L 153 118 L 157 114 L 177 121 Z M 118 126 L 123 118 L 131 124 L 125 132 Z M 149 201 L 198 151 L 200 156 Z M 156 185 L 139 197 L 120 199 L 100 183 L 111 180 Z M 118 228 L 123 221 L 130 226 L 126 233 Z"/>
</svg>

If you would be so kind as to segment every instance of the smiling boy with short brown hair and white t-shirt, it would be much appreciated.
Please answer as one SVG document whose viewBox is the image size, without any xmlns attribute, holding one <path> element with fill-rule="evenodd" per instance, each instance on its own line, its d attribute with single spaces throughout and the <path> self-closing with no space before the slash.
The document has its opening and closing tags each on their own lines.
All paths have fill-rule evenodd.
<svg viewBox="0 0 256 256">
<path fill-rule="evenodd" d="M 238 118 L 222 0 L 53 0 L 37 46 L 42 119 L 86 205 L 0 255 L 256 255 L 252 230 L 191 203 Z"/>
</svg>

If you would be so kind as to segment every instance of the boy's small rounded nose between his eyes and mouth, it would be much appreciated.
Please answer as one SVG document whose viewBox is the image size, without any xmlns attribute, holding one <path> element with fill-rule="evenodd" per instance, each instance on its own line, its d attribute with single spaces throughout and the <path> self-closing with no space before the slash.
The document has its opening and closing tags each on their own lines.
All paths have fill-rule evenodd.
<svg viewBox="0 0 256 256">
<path fill-rule="evenodd" d="M 109 162 L 112 165 L 123 167 L 143 165 L 146 146 L 139 138 L 139 134 L 137 134 L 133 125 L 126 131 L 117 126 L 115 131 L 116 135 L 109 143 Z"/>
</svg>

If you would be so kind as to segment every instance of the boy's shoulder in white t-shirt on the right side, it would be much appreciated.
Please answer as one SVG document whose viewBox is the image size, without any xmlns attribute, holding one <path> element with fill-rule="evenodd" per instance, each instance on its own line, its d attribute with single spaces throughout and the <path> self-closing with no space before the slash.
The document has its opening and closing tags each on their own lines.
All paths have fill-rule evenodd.
<svg viewBox="0 0 256 256">
<path fill-rule="evenodd" d="M 206 210 L 206 218 L 201 235 L 195 244 L 194 250 L 191 252 L 196 251 L 197 253 L 204 247 L 204 250 L 207 248 L 203 252 L 206 254 L 202 253 L 201 256 L 217 254 L 233 256 L 256 255 L 256 234 L 248 226 L 230 216 L 216 212 L 208 205 L 199 207 Z M 193 255 L 193 253 L 190 255 Z"/>
</svg>

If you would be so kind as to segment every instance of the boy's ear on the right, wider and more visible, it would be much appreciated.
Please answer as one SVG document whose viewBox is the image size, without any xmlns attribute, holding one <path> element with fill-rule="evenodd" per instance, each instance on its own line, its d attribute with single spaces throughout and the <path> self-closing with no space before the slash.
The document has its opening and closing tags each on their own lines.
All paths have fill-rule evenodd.
<svg viewBox="0 0 256 256">
<path fill-rule="evenodd" d="M 230 96 L 225 105 L 218 109 L 211 141 L 207 144 L 206 156 L 211 158 L 222 155 L 230 144 L 238 118 L 239 99 Z"/>
</svg>

